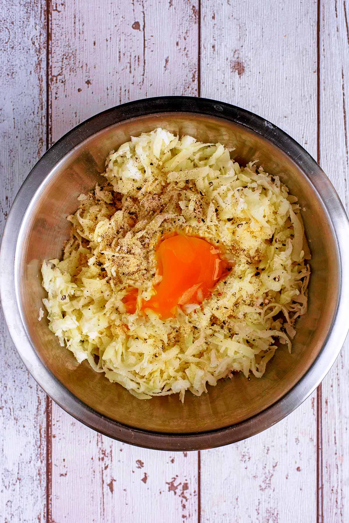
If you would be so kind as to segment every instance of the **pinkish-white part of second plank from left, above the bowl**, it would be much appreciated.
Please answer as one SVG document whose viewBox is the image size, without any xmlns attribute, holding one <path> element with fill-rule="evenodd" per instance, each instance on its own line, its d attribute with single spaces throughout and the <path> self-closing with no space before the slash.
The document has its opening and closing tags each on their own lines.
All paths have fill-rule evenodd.
<svg viewBox="0 0 349 523">
<path fill-rule="evenodd" d="M 130 100 L 197 93 L 197 5 L 162 0 L 55 4 L 52 139 Z"/>
</svg>

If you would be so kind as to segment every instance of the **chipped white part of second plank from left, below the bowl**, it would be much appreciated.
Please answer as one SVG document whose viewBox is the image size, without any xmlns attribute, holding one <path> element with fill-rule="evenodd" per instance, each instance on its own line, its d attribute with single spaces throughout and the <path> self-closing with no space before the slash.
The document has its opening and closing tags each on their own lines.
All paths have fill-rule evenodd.
<svg viewBox="0 0 349 523">
<path fill-rule="evenodd" d="M 197 454 L 151 451 L 53 417 L 52 521 L 197 521 Z"/>
</svg>

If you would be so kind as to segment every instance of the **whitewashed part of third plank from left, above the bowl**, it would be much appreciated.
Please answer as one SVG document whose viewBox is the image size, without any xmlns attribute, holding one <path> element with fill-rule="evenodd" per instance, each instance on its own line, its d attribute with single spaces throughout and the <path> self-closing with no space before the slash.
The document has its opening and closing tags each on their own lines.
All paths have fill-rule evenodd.
<svg viewBox="0 0 349 523">
<path fill-rule="evenodd" d="M 201 6 L 201 96 L 272 121 L 316 156 L 316 1 Z"/>
</svg>

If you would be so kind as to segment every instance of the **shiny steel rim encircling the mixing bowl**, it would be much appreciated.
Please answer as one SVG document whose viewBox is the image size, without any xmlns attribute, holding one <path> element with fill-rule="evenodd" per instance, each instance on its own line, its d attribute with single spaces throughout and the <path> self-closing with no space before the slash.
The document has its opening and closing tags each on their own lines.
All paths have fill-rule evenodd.
<svg viewBox="0 0 349 523">
<path fill-rule="evenodd" d="M 340 266 L 339 300 L 334 321 L 319 355 L 297 384 L 272 406 L 250 419 L 222 429 L 195 434 L 155 433 L 128 427 L 99 414 L 78 400 L 43 365 L 32 347 L 22 321 L 14 283 L 15 252 L 22 218 L 35 192 L 57 165 L 57 158 L 62 159 L 93 134 L 118 122 L 156 113 L 174 112 L 196 113 L 239 124 L 261 134 L 264 139 L 289 156 L 307 173 L 331 218 Z M 319 188 L 319 185 L 322 187 Z M 349 223 L 346 213 L 330 180 L 303 147 L 272 123 L 239 107 L 205 98 L 167 96 L 137 100 L 101 112 L 65 134 L 40 158 L 24 181 L 9 212 L 1 245 L 0 293 L 2 303 L 6 304 L 3 307 L 4 315 L 17 351 L 33 378 L 56 403 L 85 425 L 120 441 L 159 450 L 194 450 L 227 445 L 257 434 L 290 414 L 316 389 L 339 355 L 349 327 L 346 318 L 349 305 L 349 271 L 343 270 L 344 263 L 349 259 L 348 237 Z"/>
</svg>

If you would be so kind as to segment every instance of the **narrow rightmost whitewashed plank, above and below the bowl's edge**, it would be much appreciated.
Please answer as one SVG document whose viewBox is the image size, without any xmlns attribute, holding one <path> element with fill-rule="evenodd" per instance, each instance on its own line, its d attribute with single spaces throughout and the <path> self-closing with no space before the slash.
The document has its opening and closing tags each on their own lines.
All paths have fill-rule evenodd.
<svg viewBox="0 0 349 523">
<path fill-rule="evenodd" d="M 348 212 L 349 4 L 322 0 L 319 21 L 320 164 Z M 319 521 L 349 520 L 348 349 L 346 341 L 322 383 L 323 468 Z"/>
</svg>

